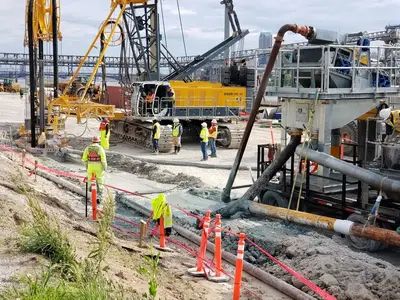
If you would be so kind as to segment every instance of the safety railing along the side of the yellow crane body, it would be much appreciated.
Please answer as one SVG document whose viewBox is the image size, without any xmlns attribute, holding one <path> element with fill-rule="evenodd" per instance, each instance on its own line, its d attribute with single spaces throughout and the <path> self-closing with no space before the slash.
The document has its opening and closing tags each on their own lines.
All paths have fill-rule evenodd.
<svg viewBox="0 0 400 300">
<path fill-rule="evenodd" d="M 242 113 L 249 113 L 253 99 L 248 97 L 217 101 L 213 97 L 189 98 L 159 98 L 146 102 L 140 98 L 135 105 L 134 112 L 141 117 L 158 118 L 238 118 Z"/>
</svg>

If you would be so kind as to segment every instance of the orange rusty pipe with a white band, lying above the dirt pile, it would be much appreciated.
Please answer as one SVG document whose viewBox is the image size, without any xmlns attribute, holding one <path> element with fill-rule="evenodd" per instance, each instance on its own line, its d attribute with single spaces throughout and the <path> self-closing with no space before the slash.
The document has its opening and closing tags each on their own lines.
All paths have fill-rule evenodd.
<svg viewBox="0 0 400 300">
<path fill-rule="evenodd" d="M 400 246 L 400 234 L 394 230 L 373 226 L 364 227 L 363 224 L 354 223 L 348 220 L 323 217 L 287 208 L 265 205 L 246 199 L 230 203 L 222 209 L 221 215 L 222 217 L 230 217 L 238 210 L 250 212 L 257 216 L 277 218 L 297 224 L 329 229 L 345 235 L 353 235 L 389 245 Z"/>
</svg>

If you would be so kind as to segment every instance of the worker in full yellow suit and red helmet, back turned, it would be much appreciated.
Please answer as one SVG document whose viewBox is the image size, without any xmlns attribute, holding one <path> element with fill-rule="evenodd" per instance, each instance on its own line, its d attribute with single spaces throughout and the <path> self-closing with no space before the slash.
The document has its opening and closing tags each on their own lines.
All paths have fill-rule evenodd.
<svg viewBox="0 0 400 300">
<path fill-rule="evenodd" d="M 103 147 L 100 145 L 100 138 L 95 136 L 92 139 L 92 144 L 86 147 L 83 152 L 82 161 L 87 170 L 87 179 L 92 179 L 94 173 L 97 184 L 97 204 L 103 194 L 104 172 L 107 170 L 107 158 Z"/>
</svg>

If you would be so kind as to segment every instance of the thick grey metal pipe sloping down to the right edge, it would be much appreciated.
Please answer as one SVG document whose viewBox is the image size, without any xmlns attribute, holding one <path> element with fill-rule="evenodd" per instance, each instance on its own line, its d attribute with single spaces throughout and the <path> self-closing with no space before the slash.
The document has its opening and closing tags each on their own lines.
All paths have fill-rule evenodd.
<svg viewBox="0 0 400 300">
<path fill-rule="evenodd" d="M 340 159 L 330 156 L 329 154 L 306 149 L 305 147 L 302 149 L 301 146 L 296 148 L 296 154 L 302 158 L 307 156 L 309 160 L 315 161 L 324 167 L 339 171 L 342 174 L 346 174 L 365 182 L 378 191 L 383 190 L 386 193 L 392 194 L 400 193 L 400 181 L 392 180 L 372 171 L 360 168 L 356 165 L 346 163 Z"/>
</svg>

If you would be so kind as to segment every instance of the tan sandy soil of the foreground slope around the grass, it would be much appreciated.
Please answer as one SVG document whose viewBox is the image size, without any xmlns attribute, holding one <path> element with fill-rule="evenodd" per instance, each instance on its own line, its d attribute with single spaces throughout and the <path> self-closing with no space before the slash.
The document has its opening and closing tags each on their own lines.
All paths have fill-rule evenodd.
<svg viewBox="0 0 400 300">
<path fill-rule="evenodd" d="M 34 182 L 33 176 L 28 177 L 27 171 L 17 166 L 19 159 L 13 156 L 15 162 L 11 161 L 10 155 L 0 153 L 0 291 L 10 285 L 16 284 L 15 278 L 21 274 L 37 274 L 46 261 L 38 255 L 23 254 L 18 250 L 17 240 L 20 225 L 30 219 L 30 212 L 26 205 L 24 196 L 10 190 L 5 185 L 14 185 L 14 182 L 24 182 L 32 187 L 41 199 L 41 205 L 52 216 L 60 220 L 62 228 L 67 232 L 78 257 L 85 257 L 90 251 L 94 237 L 85 231 L 95 232 L 94 224 L 83 217 L 84 205 L 81 197 L 57 185 L 37 177 Z M 46 161 L 46 160 L 45 160 Z M 43 163 L 45 161 L 40 161 Z M 131 236 L 116 234 L 117 245 L 112 246 L 106 263 L 109 266 L 108 276 L 122 284 L 127 289 L 133 289 L 137 293 L 147 290 L 146 278 L 137 270 L 143 262 L 142 255 L 148 250 L 136 247 L 137 240 Z M 127 251 L 121 245 L 133 248 Z M 160 265 L 159 294 L 163 299 L 231 299 L 232 282 L 225 284 L 214 284 L 204 279 L 196 279 L 185 274 L 188 266 L 194 266 L 195 260 L 187 252 L 171 246 L 175 253 L 163 254 Z M 230 269 L 229 271 L 232 271 Z M 287 297 L 271 288 L 257 282 L 253 278 L 245 276 L 249 288 L 263 296 L 263 299 L 284 300 Z M 243 299 L 254 299 L 254 296 L 243 291 Z"/>
</svg>

